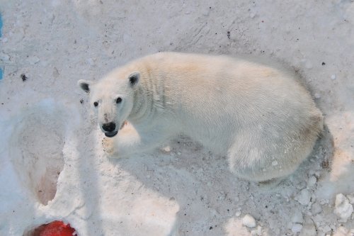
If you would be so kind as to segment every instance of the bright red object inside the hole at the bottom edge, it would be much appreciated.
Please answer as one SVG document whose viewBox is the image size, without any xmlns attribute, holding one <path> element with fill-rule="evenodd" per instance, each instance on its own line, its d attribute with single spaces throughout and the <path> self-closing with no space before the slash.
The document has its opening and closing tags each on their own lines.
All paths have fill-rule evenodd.
<svg viewBox="0 0 354 236">
<path fill-rule="evenodd" d="M 47 225 L 42 225 L 39 236 L 75 236 L 75 229 L 70 224 L 55 220 Z"/>
</svg>

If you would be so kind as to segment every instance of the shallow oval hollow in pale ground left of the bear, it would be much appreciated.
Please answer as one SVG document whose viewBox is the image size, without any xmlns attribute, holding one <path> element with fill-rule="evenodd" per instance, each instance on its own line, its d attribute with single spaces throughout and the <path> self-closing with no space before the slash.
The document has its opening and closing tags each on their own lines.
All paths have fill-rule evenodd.
<svg viewBox="0 0 354 236">
<path fill-rule="evenodd" d="M 47 205 L 55 197 L 57 179 L 64 168 L 66 112 L 51 101 L 23 111 L 15 119 L 11 160 L 25 189 Z"/>
</svg>

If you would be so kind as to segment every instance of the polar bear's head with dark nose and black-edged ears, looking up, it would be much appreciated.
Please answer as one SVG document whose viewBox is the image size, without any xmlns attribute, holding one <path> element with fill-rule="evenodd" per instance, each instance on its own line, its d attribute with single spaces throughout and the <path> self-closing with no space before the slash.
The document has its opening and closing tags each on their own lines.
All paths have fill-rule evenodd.
<svg viewBox="0 0 354 236">
<path fill-rule="evenodd" d="M 107 137 L 117 135 L 130 116 L 140 73 L 110 74 L 98 83 L 80 79 L 78 84 L 90 94 L 90 101 L 97 111 L 98 123 Z"/>
</svg>

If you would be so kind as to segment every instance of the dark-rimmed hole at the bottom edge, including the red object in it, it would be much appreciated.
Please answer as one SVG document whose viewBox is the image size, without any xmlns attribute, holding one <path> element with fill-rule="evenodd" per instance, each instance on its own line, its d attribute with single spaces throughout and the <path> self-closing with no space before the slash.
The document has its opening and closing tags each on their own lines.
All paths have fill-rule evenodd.
<svg viewBox="0 0 354 236">
<path fill-rule="evenodd" d="M 23 236 L 75 236 L 76 230 L 60 220 L 43 224 L 34 229 L 27 230 Z"/>
</svg>

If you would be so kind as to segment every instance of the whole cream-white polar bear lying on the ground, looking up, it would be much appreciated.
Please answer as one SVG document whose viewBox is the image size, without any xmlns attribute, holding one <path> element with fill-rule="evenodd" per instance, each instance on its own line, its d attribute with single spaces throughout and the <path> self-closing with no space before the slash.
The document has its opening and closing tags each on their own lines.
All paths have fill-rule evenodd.
<svg viewBox="0 0 354 236">
<path fill-rule="evenodd" d="M 117 158 L 183 133 L 226 155 L 236 176 L 268 183 L 294 172 L 323 128 L 295 73 L 243 58 L 160 52 L 78 84 Z"/>
</svg>

